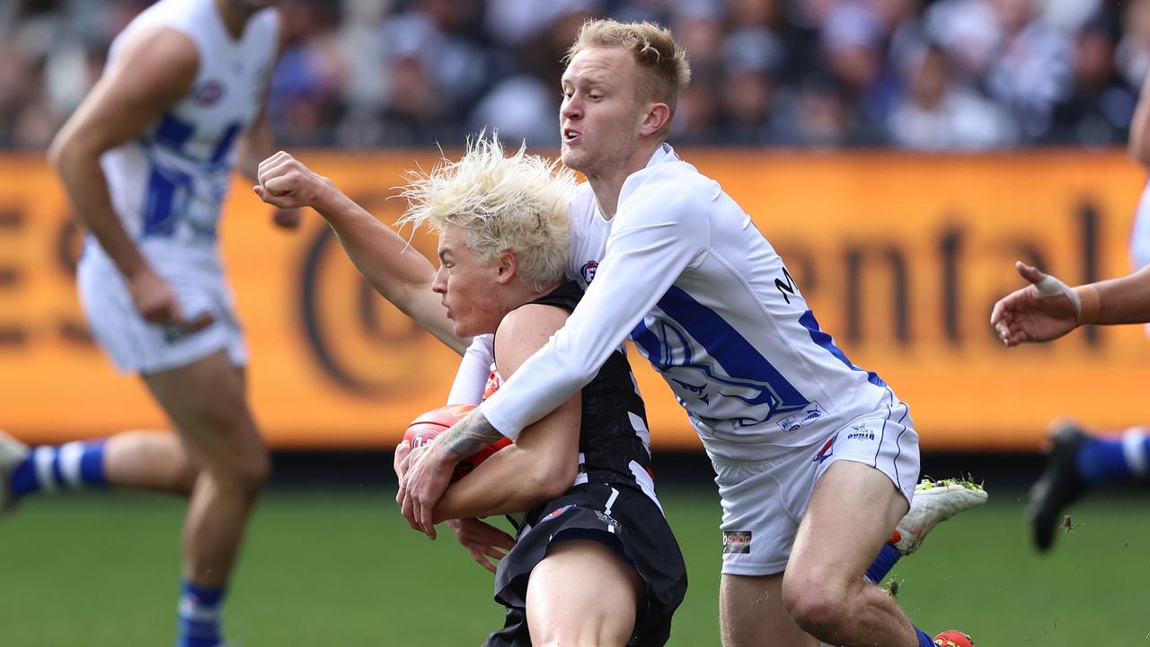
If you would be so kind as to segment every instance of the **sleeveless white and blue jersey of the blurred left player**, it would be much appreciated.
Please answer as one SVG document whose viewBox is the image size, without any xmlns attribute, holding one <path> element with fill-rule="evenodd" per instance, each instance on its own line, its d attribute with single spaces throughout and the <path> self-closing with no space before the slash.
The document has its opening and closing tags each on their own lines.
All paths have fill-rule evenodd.
<svg viewBox="0 0 1150 647">
<path fill-rule="evenodd" d="M 195 44 L 195 82 L 143 135 L 106 152 L 100 165 L 113 206 L 138 243 L 214 248 L 236 142 L 263 105 L 279 22 L 274 9 L 261 10 L 233 39 L 213 0 L 161 0 L 120 32 L 105 73 L 129 37 L 159 26 L 186 33 Z"/>
</svg>

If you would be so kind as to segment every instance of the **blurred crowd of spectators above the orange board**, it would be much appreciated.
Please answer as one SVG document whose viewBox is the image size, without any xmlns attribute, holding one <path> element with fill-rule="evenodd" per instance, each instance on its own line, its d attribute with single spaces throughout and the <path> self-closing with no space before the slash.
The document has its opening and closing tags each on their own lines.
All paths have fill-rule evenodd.
<svg viewBox="0 0 1150 647">
<path fill-rule="evenodd" d="M 0 147 L 43 149 L 150 2 L 0 2 Z M 687 48 L 680 145 L 995 150 L 1125 142 L 1150 0 L 284 0 L 285 146 L 558 146 L 561 59 L 591 16 Z"/>
</svg>

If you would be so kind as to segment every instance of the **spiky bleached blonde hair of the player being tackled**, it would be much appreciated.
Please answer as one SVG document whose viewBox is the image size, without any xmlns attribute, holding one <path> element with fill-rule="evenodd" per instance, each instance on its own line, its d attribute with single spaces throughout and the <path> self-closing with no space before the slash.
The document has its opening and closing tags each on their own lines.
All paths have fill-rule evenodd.
<svg viewBox="0 0 1150 647">
<path fill-rule="evenodd" d="M 527 154 L 526 144 L 508 157 L 497 136 L 481 132 L 468 139 L 459 161 L 444 158 L 430 173 L 408 172 L 401 195 L 408 207 L 397 224 L 427 224 L 436 233 L 460 227 L 481 262 L 514 253 L 531 290 L 562 280 L 575 174 Z"/>
</svg>

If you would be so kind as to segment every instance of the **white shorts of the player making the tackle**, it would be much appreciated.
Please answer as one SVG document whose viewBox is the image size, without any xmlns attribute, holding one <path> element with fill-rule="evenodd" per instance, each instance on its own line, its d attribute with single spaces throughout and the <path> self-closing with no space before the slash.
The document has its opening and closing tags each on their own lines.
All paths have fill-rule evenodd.
<svg viewBox="0 0 1150 647">
<path fill-rule="evenodd" d="M 906 497 L 919 478 L 919 435 L 906 405 L 856 418 L 822 442 L 754 463 L 715 463 L 722 503 L 722 572 L 769 576 L 790 558 L 814 484 L 836 460 L 869 465 Z"/>
</svg>

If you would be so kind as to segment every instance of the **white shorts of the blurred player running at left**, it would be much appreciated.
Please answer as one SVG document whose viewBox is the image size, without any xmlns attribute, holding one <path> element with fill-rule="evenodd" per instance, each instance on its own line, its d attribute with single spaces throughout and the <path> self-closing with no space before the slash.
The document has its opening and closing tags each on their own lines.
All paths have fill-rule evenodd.
<svg viewBox="0 0 1150 647">
<path fill-rule="evenodd" d="M 141 246 L 153 269 L 168 281 L 184 318 L 200 326 L 150 324 L 132 304 L 123 275 L 94 242 L 89 242 L 76 273 L 80 303 L 92 335 L 125 373 L 156 373 L 187 366 L 225 350 L 237 366 L 247 349 L 233 298 L 214 252 Z M 210 324 L 202 325 L 210 317 Z"/>
</svg>

